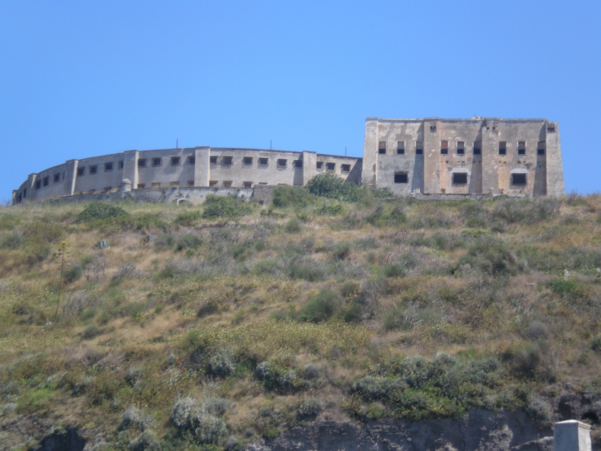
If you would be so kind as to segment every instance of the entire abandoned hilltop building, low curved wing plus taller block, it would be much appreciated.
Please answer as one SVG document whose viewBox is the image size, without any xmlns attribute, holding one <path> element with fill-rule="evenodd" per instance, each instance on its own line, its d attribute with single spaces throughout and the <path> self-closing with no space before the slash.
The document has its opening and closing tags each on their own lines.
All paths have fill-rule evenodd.
<svg viewBox="0 0 601 451">
<path fill-rule="evenodd" d="M 207 187 L 230 192 L 261 185 L 304 186 L 322 173 L 397 195 L 564 194 L 556 122 L 370 117 L 363 158 L 223 147 L 128 150 L 29 174 L 13 191 L 13 204 L 116 191 L 124 180 L 134 191 Z"/>
</svg>

